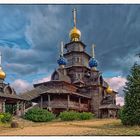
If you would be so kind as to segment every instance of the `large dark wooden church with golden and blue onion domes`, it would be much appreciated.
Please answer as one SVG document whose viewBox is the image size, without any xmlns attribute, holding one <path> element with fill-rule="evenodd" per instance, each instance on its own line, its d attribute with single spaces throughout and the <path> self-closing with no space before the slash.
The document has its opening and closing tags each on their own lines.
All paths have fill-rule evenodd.
<svg viewBox="0 0 140 140">
<path fill-rule="evenodd" d="M 97 69 L 94 45 L 92 56 L 86 52 L 86 45 L 80 40 L 81 32 L 76 26 L 75 9 L 73 19 L 70 42 L 61 43 L 57 60 L 59 67 L 52 73 L 51 80 L 35 84 L 33 90 L 21 97 L 56 114 L 75 110 L 92 112 L 100 118 L 116 117 L 119 109 L 116 106 L 117 92 L 109 87 Z"/>
</svg>

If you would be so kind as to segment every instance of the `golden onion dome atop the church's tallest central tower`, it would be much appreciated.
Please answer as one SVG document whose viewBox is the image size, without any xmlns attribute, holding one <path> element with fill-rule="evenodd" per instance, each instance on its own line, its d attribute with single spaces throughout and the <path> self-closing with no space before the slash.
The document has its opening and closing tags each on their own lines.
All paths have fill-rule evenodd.
<svg viewBox="0 0 140 140">
<path fill-rule="evenodd" d="M 71 41 L 79 41 L 81 32 L 74 26 L 74 28 L 70 31 L 69 36 L 71 38 Z"/>
</svg>

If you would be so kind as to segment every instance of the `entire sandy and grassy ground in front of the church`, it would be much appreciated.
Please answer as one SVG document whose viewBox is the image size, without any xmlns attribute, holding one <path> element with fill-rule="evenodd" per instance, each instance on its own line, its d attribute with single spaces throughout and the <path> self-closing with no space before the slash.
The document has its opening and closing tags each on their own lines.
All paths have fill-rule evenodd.
<svg viewBox="0 0 140 140">
<path fill-rule="evenodd" d="M 1 125 L 0 125 L 1 126 Z M 140 126 L 124 126 L 119 119 L 93 119 L 84 121 L 52 121 L 32 123 L 24 128 L 7 127 L 4 135 L 84 135 L 84 136 L 140 136 Z M 54 131 L 55 130 L 55 131 Z"/>
</svg>

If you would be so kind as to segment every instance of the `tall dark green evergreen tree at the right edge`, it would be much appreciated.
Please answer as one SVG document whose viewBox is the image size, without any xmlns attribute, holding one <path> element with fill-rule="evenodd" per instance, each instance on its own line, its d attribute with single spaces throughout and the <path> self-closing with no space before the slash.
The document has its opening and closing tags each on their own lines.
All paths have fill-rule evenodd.
<svg viewBox="0 0 140 140">
<path fill-rule="evenodd" d="M 124 125 L 140 125 L 140 65 L 135 63 L 124 87 L 125 105 L 121 113 Z"/>
</svg>

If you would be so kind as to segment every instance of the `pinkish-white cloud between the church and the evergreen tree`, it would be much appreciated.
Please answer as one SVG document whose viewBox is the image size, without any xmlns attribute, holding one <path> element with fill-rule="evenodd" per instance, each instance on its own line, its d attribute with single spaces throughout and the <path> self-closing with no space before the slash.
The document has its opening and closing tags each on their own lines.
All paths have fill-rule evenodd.
<svg viewBox="0 0 140 140">
<path fill-rule="evenodd" d="M 125 86 L 126 78 L 118 76 L 112 78 L 105 78 L 110 87 L 119 94 L 116 96 L 116 104 L 124 105 L 123 87 Z"/>
</svg>

